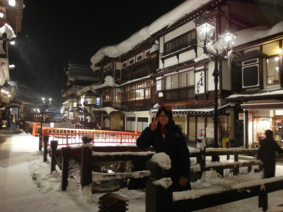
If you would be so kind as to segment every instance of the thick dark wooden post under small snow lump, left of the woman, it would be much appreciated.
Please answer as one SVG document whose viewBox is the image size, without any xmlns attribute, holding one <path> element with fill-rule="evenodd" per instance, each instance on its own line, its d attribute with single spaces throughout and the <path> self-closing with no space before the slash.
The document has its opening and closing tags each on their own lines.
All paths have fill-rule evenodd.
<svg viewBox="0 0 283 212">
<path fill-rule="evenodd" d="M 92 150 L 89 147 L 81 148 L 81 186 L 91 184 L 92 182 Z"/>
</svg>

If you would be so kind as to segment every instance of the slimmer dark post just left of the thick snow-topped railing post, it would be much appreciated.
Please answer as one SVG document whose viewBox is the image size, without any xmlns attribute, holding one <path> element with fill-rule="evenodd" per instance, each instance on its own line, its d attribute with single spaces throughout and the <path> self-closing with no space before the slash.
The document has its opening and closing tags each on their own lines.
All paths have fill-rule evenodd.
<svg viewBox="0 0 283 212">
<path fill-rule="evenodd" d="M 62 157 L 61 186 L 62 186 L 62 191 L 65 191 L 68 186 L 70 147 L 64 147 L 61 149 L 61 157 Z"/>
</svg>

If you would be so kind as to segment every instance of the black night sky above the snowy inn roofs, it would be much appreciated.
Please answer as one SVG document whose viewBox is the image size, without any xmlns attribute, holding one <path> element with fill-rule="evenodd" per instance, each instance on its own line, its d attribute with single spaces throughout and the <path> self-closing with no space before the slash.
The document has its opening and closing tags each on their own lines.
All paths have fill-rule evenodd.
<svg viewBox="0 0 283 212">
<path fill-rule="evenodd" d="M 60 100 L 64 66 L 91 65 L 103 46 L 117 44 L 184 0 L 24 0 L 22 29 L 9 61 L 10 79 Z"/>
</svg>

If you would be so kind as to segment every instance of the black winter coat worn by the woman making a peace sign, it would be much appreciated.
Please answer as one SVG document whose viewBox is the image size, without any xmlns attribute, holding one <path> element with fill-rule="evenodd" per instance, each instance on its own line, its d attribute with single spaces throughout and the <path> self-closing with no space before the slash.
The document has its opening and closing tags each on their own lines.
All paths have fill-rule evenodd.
<svg viewBox="0 0 283 212">
<path fill-rule="evenodd" d="M 187 180 L 190 180 L 190 152 L 183 133 L 173 120 L 166 126 L 168 133 L 165 139 L 163 139 L 158 128 L 152 131 L 149 126 L 136 139 L 136 146 L 140 149 L 152 146 L 155 148 L 156 153 L 164 152 L 169 155 L 172 162 L 173 182 L 179 183 L 180 177 L 186 177 Z"/>
</svg>

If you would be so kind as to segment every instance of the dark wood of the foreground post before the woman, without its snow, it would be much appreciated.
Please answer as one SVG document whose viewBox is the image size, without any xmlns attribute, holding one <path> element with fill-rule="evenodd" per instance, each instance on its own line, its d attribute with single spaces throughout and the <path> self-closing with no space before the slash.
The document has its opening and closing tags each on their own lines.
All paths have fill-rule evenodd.
<svg viewBox="0 0 283 212">
<path fill-rule="evenodd" d="M 146 167 L 150 170 L 151 177 L 146 181 L 146 212 L 171 212 L 173 210 L 173 186 L 164 189 L 154 181 L 167 177 L 167 172 L 156 162 L 148 160 Z"/>
</svg>

